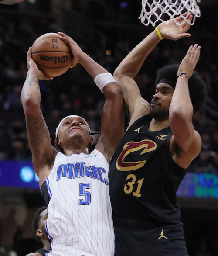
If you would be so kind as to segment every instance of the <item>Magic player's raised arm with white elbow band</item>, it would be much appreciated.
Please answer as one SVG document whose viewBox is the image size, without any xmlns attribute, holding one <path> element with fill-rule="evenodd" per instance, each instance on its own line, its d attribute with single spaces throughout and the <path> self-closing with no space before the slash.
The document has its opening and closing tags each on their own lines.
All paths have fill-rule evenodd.
<svg viewBox="0 0 218 256">
<path fill-rule="evenodd" d="M 104 93 L 106 100 L 101 117 L 102 135 L 96 144 L 95 149 L 102 152 L 109 163 L 124 132 L 124 104 L 122 91 L 113 76 L 89 57 L 89 55 L 83 52 L 71 37 L 62 32 L 58 32 L 58 34 L 60 38 L 65 40 L 65 42 L 68 42 L 71 47 L 74 56 L 72 66 L 75 66 L 76 63 L 80 63 L 93 79 L 96 79 L 96 77 L 99 77 L 100 75 L 99 79 L 101 82 L 96 82 L 96 80 L 95 82 Z"/>
</svg>

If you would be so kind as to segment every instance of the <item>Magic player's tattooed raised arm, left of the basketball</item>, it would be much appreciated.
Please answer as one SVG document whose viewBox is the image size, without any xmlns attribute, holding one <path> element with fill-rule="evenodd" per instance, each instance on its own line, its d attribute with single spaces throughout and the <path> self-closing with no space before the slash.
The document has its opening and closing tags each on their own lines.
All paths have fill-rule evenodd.
<svg viewBox="0 0 218 256">
<path fill-rule="evenodd" d="M 37 176 L 43 182 L 48 173 L 43 173 L 45 166 L 50 166 L 54 160 L 55 149 L 51 145 L 48 127 L 40 111 L 41 93 L 39 79 L 51 79 L 44 76 L 34 60 L 31 58 L 31 48 L 27 52 L 27 77 L 21 91 L 21 102 L 24 108 L 24 115 L 27 127 L 27 137 L 30 145 L 33 166 Z M 40 183 L 41 183 L 40 181 Z"/>
</svg>

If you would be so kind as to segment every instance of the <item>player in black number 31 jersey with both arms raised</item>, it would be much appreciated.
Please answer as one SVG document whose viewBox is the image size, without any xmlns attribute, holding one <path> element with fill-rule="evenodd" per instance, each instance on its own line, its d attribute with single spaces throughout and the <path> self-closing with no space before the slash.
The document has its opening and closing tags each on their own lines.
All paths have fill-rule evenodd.
<svg viewBox="0 0 218 256">
<path fill-rule="evenodd" d="M 161 36 L 184 38 L 190 36 L 189 27 L 174 19 L 159 24 L 158 33 L 151 32 L 114 73 L 130 113 L 109 170 L 115 256 L 187 256 L 176 191 L 201 150 L 201 137 L 192 124 L 207 94 L 194 71 L 201 47 L 190 46 L 180 65 L 158 71 L 150 104 L 141 97 L 134 77 Z"/>
</svg>

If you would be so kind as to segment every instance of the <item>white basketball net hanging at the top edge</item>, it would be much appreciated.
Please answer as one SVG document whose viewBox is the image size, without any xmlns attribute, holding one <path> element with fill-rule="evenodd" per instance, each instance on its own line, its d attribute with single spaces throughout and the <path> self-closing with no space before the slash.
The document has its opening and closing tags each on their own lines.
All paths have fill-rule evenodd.
<svg viewBox="0 0 218 256">
<path fill-rule="evenodd" d="M 187 12 L 188 14 L 193 14 L 192 21 L 187 21 L 193 25 L 195 18 L 201 16 L 197 2 L 201 2 L 201 0 L 142 0 L 142 10 L 139 19 L 141 19 L 144 25 L 151 24 L 155 27 L 158 21 L 164 22 L 169 20 L 169 17 L 173 19 L 180 15 L 182 15 L 184 18 L 183 22 L 185 22 L 187 21 L 185 19 L 186 15 L 183 16 L 183 14 Z"/>
</svg>

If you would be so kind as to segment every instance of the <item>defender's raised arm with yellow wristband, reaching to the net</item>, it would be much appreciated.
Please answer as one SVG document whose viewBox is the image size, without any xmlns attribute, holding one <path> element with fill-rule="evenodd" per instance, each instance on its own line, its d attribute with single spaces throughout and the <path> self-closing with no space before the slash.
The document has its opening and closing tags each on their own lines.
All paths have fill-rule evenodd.
<svg viewBox="0 0 218 256">
<path fill-rule="evenodd" d="M 188 20 L 191 21 L 191 19 L 192 15 L 189 14 Z M 182 23 L 183 18 L 177 17 L 176 19 L 170 20 L 167 25 L 161 23 L 157 26 L 162 38 L 178 40 L 190 36 L 190 34 L 186 33 L 190 28 L 190 24 L 185 22 L 182 25 L 178 25 L 175 21 L 177 23 Z M 140 90 L 134 81 L 134 77 L 139 72 L 147 55 L 160 40 L 161 39 L 156 31 L 151 32 L 142 42 L 129 52 L 114 72 L 114 77 L 122 88 L 125 104 L 130 113 L 131 120 L 129 125 L 141 116 L 150 113 L 150 104 L 141 97 Z"/>
</svg>

